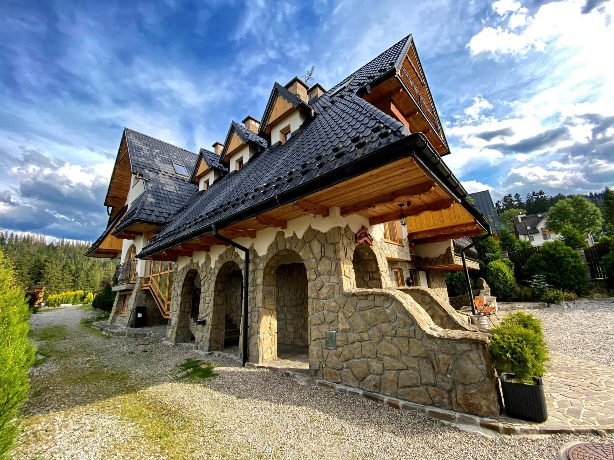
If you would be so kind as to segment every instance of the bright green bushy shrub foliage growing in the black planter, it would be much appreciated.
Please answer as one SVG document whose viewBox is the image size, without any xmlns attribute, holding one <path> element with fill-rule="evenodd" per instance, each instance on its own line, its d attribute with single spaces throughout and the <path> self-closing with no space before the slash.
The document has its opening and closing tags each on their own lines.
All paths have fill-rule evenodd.
<svg viewBox="0 0 614 460">
<path fill-rule="evenodd" d="M 548 345 L 542 324 L 533 315 L 516 312 L 492 329 L 488 354 L 497 372 L 510 372 L 519 383 L 542 377 L 548 361 Z"/>
</svg>

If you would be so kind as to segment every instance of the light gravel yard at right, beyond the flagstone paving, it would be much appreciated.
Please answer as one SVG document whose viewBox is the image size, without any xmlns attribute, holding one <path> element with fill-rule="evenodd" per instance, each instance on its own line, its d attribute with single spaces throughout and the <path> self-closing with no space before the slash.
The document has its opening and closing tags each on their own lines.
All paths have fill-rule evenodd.
<svg viewBox="0 0 614 460">
<path fill-rule="evenodd" d="M 614 298 L 531 310 L 542 320 L 551 350 L 614 367 Z"/>
</svg>

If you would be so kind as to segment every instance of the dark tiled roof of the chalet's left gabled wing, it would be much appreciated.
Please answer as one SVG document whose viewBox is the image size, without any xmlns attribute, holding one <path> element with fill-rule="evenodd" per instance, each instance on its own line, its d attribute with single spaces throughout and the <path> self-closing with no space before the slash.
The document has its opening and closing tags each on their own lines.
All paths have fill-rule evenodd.
<svg viewBox="0 0 614 460">
<path fill-rule="evenodd" d="M 173 163 L 192 171 L 198 156 L 191 151 L 167 144 L 140 132 L 124 130 L 133 174 L 142 174 L 145 191 L 115 229 L 119 233 L 133 221 L 167 223 L 182 205 L 198 191 L 190 178 L 175 172 Z"/>
</svg>

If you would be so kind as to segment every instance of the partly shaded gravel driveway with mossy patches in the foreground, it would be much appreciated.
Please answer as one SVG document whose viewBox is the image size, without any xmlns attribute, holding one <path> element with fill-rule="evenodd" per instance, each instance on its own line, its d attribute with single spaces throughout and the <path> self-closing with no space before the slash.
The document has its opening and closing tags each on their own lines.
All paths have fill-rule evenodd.
<svg viewBox="0 0 614 460">
<path fill-rule="evenodd" d="M 46 361 L 33 370 L 17 459 L 555 459 L 565 443 L 614 442 L 464 432 L 222 358 L 205 359 L 217 364 L 215 378 L 179 379 L 177 364 L 198 355 L 107 339 L 80 326 L 87 315 L 68 307 L 33 316 Z"/>
</svg>

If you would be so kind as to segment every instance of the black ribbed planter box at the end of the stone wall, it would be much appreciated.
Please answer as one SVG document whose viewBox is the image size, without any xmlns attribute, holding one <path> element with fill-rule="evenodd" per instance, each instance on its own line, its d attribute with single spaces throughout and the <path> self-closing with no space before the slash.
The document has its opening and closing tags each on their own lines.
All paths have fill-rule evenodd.
<svg viewBox="0 0 614 460">
<path fill-rule="evenodd" d="M 506 381 L 506 377 L 513 377 L 513 374 L 501 374 L 501 391 L 503 393 L 503 404 L 505 413 L 513 418 L 521 420 L 544 422 L 548 420 L 548 409 L 546 408 L 546 395 L 543 393 L 541 377 L 533 377 L 537 385 L 526 385 Z"/>
</svg>

